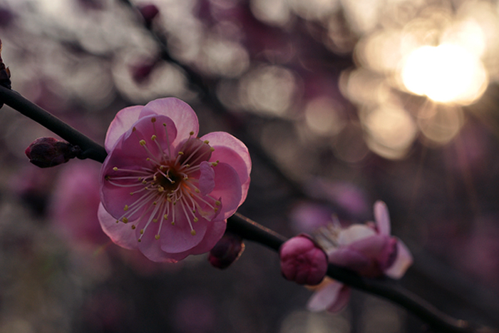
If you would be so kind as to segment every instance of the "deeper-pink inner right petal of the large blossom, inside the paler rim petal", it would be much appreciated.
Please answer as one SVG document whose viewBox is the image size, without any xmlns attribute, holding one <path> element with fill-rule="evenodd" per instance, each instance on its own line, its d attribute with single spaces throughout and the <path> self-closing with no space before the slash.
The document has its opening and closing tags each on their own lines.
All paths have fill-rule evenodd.
<svg viewBox="0 0 499 333">
<path fill-rule="evenodd" d="M 217 220 L 226 220 L 240 206 L 242 196 L 240 179 L 234 168 L 227 163 L 218 163 L 213 170 L 215 170 L 215 188 L 210 196 L 220 198 L 222 202 Z"/>
</svg>

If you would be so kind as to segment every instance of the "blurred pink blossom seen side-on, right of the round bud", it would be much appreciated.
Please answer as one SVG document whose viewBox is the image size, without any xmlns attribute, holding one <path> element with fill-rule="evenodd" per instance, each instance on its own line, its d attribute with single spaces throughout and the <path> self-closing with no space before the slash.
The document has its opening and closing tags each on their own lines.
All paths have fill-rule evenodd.
<svg viewBox="0 0 499 333">
<path fill-rule="evenodd" d="M 326 248 L 328 260 L 334 265 L 364 277 L 399 279 L 413 262 L 411 252 L 401 240 L 391 237 L 390 216 L 382 201 L 374 203 L 374 220 L 347 228 L 341 228 L 336 220 L 335 225 L 320 230 L 317 241 Z M 326 278 L 307 307 L 311 311 L 338 312 L 348 302 L 349 294 L 350 287 Z"/>
</svg>

